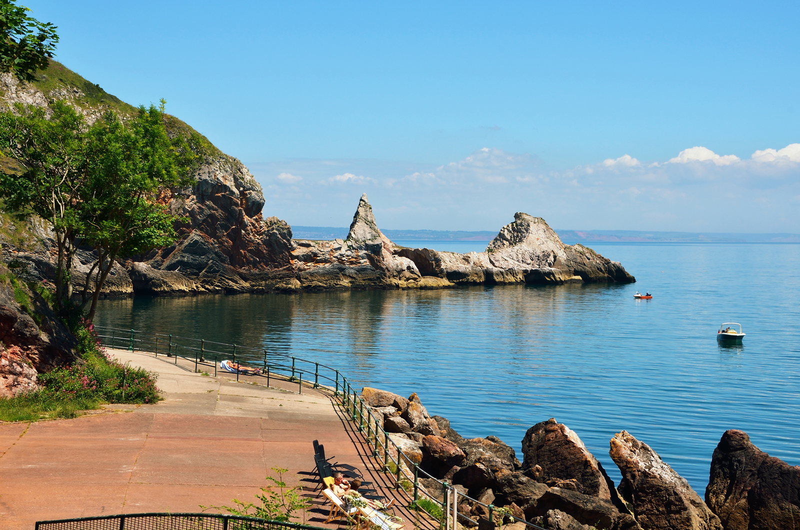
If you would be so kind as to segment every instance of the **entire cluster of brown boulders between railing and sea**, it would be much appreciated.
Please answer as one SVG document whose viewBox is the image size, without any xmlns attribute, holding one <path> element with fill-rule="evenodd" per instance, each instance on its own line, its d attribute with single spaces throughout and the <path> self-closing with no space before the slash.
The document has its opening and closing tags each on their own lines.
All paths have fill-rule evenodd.
<svg viewBox="0 0 800 530">
<path fill-rule="evenodd" d="M 520 462 L 496 436 L 463 438 L 446 418 L 430 416 L 416 393 L 406 399 L 366 387 L 362 398 L 378 426 L 419 465 L 419 484 L 438 500 L 442 485 L 426 473 L 544 528 L 800 528 L 800 468 L 759 451 L 741 431 L 727 431 L 714 451 L 704 502 L 650 446 L 625 431 L 610 440 L 609 454 L 622 472 L 615 487 L 578 435 L 553 418 L 528 429 Z M 494 528 L 478 503 L 464 499 L 458 510 L 479 530 Z"/>
</svg>

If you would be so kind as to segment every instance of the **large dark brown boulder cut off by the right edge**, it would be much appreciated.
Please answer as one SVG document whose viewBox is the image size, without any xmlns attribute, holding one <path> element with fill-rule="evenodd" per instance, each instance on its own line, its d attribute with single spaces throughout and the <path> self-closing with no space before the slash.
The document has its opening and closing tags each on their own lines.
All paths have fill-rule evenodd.
<svg viewBox="0 0 800 530">
<path fill-rule="evenodd" d="M 746 432 L 722 435 L 706 503 L 726 530 L 800 528 L 800 466 L 762 452 Z"/>
</svg>

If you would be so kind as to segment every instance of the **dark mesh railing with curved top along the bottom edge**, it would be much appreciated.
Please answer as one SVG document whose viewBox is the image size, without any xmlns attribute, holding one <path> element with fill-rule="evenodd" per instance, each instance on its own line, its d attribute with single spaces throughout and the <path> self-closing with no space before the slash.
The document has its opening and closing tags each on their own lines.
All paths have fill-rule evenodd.
<svg viewBox="0 0 800 530">
<path fill-rule="evenodd" d="M 118 516 L 42 520 L 36 530 L 326 530 L 309 524 L 219 513 L 126 513 Z"/>
</svg>

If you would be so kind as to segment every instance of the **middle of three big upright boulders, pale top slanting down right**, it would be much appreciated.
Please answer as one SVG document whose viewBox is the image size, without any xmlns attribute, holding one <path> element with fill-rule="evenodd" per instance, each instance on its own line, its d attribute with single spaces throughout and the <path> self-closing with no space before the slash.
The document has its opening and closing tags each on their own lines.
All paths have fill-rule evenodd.
<svg viewBox="0 0 800 530">
<path fill-rule="evenodd" d="M 611 438 L 609 454 L 622 472 L 623 498 L 644 530 L 722 530 L 689 483 L 649 445 L 622 431 Z"/>
</svg>

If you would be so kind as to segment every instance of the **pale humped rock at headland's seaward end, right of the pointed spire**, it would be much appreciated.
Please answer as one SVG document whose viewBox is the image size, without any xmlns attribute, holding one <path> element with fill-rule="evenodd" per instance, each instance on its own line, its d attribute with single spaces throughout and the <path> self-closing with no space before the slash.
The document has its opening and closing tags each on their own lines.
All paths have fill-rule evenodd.
<svg viewBox="0 0 800 530">
<path fill-rule="evenodd" d="M 631 282 L 617 261 L 583 245 L 564 245 L 542 217 L 515 213 L 486 252 L 457 254 L 431 249 L 399 249 L 425 274 L 454 283 L 564 284 L 584 281 Z"/>
</svg>

